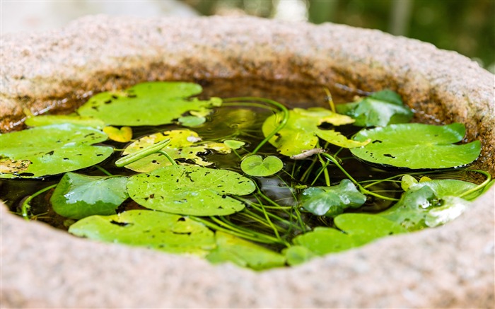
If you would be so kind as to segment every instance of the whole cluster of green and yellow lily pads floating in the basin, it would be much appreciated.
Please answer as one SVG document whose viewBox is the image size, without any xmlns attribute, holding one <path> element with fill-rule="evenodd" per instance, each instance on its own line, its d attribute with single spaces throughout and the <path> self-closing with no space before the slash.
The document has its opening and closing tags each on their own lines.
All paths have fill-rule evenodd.
<svg viewBox="0 0 495 309">
<path fill-rule="evenodd" d="M 31 129 L 1 134 L 0 177 L 63 174 L 50 202 L 57 214 L 78 220 L 69 228 L 74 235 L 257 270 L 301 264 L 387 235 L 440 226 L 462 214 L 467 201 L 481 194 L 491 179 L 482 171 L 487 180 L 481 185 L 401 173 L 365 185 L 347 173 L 342 161 L 327 153 L 327 145 L 349 148 L 356 158 L 380 168 L 412 172 L 458 168 L 479 156 L 479 141 L 457 144 L 465 135 L 462 124 L 402 123 L 409 122 L 412 111 L 392 91 L 337 105 L 340 114 L 321 107 L 286 110 L 276 103 L 271 108 L 281 110 L 258 127 L 265 139 L 257 148 L 247 139 L 256 135 L 252 127 L 257 121 L 245 108 L 246 98 L 239 99 L 243 108 L 238 112 L 228 112 L 228 118 L 240 121 L 217 124 L 223 135 L 205 140 L 185 129 L 204 126 L 211 108 L 222 104 L 219 98 L 189 98 L 200 92 L 194 83 L 142 83 L 95 95 L 77 115 L 31 117 L 26 122 Z M 182 127 L 133 139 L 132 127 L 161 124 Z M 347 124 L 367 129 L 349 138 L 339 129 Z M 72 173 L 109 160 L 114 148 L 100 143 L 110 140 L 124 148 L 116 165 L 135 175 Z M 264 153 L 256 154 L 258 149 Z M 232 155 L 237 166 L 212 168 L 208 153 Z M 306 170 L 296 180 L 298 164 Z M 344 173 L 338 184 L 331 180 L 330 166 Z M 310 182 L 313 169 L 318 173 Z M 264 180 L 283 185 L 293 202 L 272 200 L 260 185 Z M 381 182 L 400 180 L 400 198 L 371 190 Z M 122 211 L 129 198 L 141 209 Z M 370 199 L 386 199 L 391 206 L 377 214 L 361 213 Z M 28 204 L 23 206 L 23 216 L 29 216 Z M 325 225 L 310 226 L 303 216 L 319 218 Z M 239 218 L 258 229 L 238 224 Z"/>
</svg>

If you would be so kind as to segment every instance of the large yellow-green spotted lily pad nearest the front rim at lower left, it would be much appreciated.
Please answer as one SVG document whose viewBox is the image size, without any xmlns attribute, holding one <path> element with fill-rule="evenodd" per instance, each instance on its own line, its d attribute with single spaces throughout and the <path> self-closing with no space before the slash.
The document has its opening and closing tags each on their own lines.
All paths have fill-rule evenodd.
<svg viewBox="0 0 495 309">
<path fill-rule="evenodd" d="M 160 211 L 88 216 L 71 225 L 69 233 L 107 243 L 199 256 L 206 256 L 216 247 L 214 233 L 202 223 Z"/>
</svg>

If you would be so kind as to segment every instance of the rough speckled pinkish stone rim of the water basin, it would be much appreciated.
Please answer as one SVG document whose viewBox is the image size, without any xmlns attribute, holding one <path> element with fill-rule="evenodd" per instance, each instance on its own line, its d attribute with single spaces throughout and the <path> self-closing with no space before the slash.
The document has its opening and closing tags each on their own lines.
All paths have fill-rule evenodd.
<svg viewBox="0 0 495 309">
<path fill-rule="evenodd" d="M 257 18 L 90 16 L 1 37 L 1 129 L 146 80 L 257 76 L 392 88 L 420 114 L 462 122 L 495 174 L 494 75 L 454 52 L 344 25 Z M 338 87 L 337 87 L 338 89 Z M 95 243 L 1 209 L 2 308 L 494 308 L 494 189 L 441 228 L 291 269 L 252 272 Z"/>
</svg>

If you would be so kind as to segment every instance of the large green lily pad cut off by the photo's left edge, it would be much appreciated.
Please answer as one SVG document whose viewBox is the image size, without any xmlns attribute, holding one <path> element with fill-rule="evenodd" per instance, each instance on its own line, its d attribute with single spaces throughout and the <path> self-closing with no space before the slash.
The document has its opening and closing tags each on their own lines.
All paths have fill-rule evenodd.
<svg viewBox="0 0 495 309">
<path fill-rule="evenodd" d="M 52 124 L 0 134 L 0 178 L 32 178 L 88 168 L 104 161 L 112 147 L 92 146 L 107 134 L 76 124 Z"/>
</svg>

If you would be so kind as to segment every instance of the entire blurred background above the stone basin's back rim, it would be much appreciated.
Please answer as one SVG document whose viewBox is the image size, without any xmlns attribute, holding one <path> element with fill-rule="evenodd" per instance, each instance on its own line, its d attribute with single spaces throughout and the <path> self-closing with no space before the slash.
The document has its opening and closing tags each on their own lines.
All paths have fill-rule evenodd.
<svg viewBox="0 0 495 309">
<path fill-rule="evenodd" d="M 431 42 L 495 72 L 495 0 L 1 0 L 1 33 L 58 28 L 95 13 L 184 18 L 252 15 L 341 23 Z"/>
</svg>

